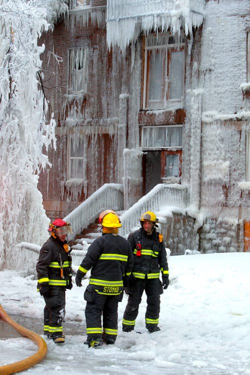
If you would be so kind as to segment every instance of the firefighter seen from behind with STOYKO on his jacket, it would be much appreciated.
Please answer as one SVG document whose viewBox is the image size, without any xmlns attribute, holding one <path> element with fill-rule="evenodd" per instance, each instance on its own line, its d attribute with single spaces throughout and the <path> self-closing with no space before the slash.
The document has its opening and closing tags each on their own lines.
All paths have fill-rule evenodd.
<svg viewBox="0 0 250 375">
<path fill-rule="evenodd" d="M 100 216 L 102 236 L 89 246 L 76 273 L 75 284 L 91 269 L 89 284 L 84 292 L 88 347 L 114 344 L 117 336 L 118 302 L 123 296 L 123 276 L 132 270 L 133 255 L 127 240 L 118 235 L 121 227 L 118 215 L 111 210 Z M 101 325 L 102 316 L 102 325 Z"/>
</svg>

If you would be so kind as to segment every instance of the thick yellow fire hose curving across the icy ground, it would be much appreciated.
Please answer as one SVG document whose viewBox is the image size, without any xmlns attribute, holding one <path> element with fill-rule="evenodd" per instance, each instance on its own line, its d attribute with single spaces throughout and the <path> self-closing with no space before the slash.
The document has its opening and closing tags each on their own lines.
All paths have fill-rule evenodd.
<svg viewBox="0 0 250 375">
<path fill-rule="evenodd" d="M 38 351 L 33 356 L 30 356 L 28 358 L 25 358 L 22 361 L 18 361 L 10 365 L 0 366 L 0 374 L 10 375 L 10 374 L 18 373 L 20 371 L 27 370 L 28 368 L 41 362 L 47 354 L 47 345 L 45 341 L 35 332 L 29 331 L 26 328 L 12 321 L 12 319 L 10 319 L 7 313 L 3 310 L 1 305 L 0 305 L 0 319 L 2 319 L 4 322 L 9 324 L 9 326 L 13 327 L 15 331 L 19 332 L 19 334 L 21 334 L 23 337 L 26 337 L 32 340 L 38 347 Z"/>
</svg>

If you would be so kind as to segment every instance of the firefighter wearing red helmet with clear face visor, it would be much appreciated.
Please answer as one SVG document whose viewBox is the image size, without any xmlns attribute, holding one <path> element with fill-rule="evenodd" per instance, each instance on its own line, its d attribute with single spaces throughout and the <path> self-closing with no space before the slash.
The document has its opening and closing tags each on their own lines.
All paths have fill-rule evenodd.
<svg viewBox="0 0 250 375">
<path fill-rule="evenodd" d="M 37 272 L 37 291 L 44 298 L 44 335 L 54 343 L 64 343 L 62 321 L 65 316 L 65 290 L 72 288 L 70 249 L 67 234 L 72 233 L 69 223 L 55 219 L 49 224 L 49 239 L 40 250 Z"/>
</svg>

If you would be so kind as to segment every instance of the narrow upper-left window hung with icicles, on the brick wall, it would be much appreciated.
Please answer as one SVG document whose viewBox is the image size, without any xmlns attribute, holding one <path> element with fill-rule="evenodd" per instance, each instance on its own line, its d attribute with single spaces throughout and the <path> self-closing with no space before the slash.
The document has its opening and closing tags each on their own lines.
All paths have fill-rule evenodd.
<svg viewBox="0 0 250 375">
<path fill-rule="evenodd" d="M 87 91 L 87 48 L 69 50 L 69 94 Z"/>
</svg>

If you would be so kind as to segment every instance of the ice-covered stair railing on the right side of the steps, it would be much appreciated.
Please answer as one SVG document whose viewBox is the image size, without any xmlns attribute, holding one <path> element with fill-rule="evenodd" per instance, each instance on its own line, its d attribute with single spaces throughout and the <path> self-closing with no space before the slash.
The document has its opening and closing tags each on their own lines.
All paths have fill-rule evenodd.
<svg viewBox="0 0 250 375">
<path fill-rule="evenodd" d="M 165 206 L 185 209 L 189 204 L 187 185 L 158 184 L 120 216 L 119 235 L 126 237 L 139 227 L 139 217 L 146 211 L 157 212 Z"/>
</svg>

